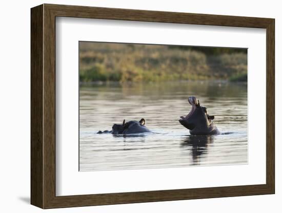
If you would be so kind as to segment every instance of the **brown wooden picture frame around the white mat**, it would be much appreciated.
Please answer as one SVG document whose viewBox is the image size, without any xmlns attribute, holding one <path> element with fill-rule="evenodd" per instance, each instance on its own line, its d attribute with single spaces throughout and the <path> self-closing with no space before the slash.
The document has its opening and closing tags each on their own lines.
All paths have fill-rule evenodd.
<svg viewBox="0 0 282 213">
<path fill-rule="evenodd" d="M 129 193 L 55 194 L 56 16 L 264 28 L 267 34 L 266 184 Z M 275 192 L 274 19 L 44 4 L 31 9 L 31 204 L 41 208 L 173 201 Z"/>
</svg>

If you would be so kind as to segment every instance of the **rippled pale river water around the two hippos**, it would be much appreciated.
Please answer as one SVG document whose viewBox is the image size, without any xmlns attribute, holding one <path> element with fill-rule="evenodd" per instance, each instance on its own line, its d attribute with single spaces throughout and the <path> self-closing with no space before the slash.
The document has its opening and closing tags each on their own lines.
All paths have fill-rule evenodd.
<svg viewBox="0 0 282 213">
<path fill-rule="evenodd" d="M 196 96 L 223 135 L 192 136 L 179 122 Z M 248 163 L 247 84 L 165 82 L 80 87 L 79 170 Z M 135 137 L 96 134 L 124 119 L 146 120 L 153 132 Z"/>
</svg>

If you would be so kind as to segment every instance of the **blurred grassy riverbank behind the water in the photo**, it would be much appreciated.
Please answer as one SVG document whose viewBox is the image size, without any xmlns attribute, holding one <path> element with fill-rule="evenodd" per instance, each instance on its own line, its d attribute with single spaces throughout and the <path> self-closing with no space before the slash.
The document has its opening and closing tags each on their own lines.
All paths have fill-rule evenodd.
<svg viewBox="0 0 282 213">
<path fill-rule="evenodd" d="M 247 80 L 247 50 L 79 42 L 80 82 Z"/>
</svg>

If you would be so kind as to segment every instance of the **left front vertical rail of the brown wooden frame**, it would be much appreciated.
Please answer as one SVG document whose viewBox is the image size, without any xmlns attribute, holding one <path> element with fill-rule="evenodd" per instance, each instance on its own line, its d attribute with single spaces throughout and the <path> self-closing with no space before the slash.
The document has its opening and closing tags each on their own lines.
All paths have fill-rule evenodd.
<svg viewBox="0 0 282 213">
<path fill-rule="evenodd" d="M 56 72 L 55 72 L 55 16 L 44 6 L 44 65 L 43 65 L 43 169 L 44 169 L 44 208 L 49 206 L 55 196 L 55 158 L 56 158 Z"/>
</svg>

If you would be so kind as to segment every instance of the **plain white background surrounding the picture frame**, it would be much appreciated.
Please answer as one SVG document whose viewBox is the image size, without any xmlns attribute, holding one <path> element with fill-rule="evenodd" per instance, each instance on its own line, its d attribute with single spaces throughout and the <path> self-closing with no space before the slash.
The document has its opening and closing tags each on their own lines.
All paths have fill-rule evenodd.
<svg viewBox="0 0 282 213">
<path fill-rule="evenodd" d="M 275 18 L 276 27 L 276 194 L 173 202 L 50 209 L 45 212 L 281 212 L 282 185 L 279 183 L 278 139 L 282 107 L 278 94 L 279 37 L 282 13 L 279 1 L 2 1 L 0 8 L 0 209 L 2 212 L 40 212 L 30 200 L 30 8 L 42 3 L 115 7 L 143 10 L 209 13 Z M 259 130 L 258 130 L 259 134 Z M 280 135 L 281 136 L 281 135 Z"/>
</svg>

